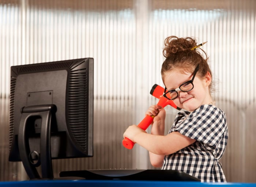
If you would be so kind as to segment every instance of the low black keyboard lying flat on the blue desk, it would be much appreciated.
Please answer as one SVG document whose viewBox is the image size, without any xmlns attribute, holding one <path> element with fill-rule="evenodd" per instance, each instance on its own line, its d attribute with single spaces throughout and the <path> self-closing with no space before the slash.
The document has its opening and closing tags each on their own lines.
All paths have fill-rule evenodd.
<svg viewBox="0 0 256 187">
<path fill-rule="evenodd" d="M 79 177 L 86 180 L 161 180 L 161 181 L 200 181 L 182 171 L 175 170 L 81 170 L 61 171 L 60 177 Z"/>
</svg>

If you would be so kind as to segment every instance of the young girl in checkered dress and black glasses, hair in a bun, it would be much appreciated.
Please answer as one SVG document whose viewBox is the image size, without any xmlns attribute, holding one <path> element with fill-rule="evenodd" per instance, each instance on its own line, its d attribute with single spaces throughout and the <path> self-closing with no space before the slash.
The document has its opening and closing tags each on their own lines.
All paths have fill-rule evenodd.
<svg viewBox="0 0 256 187">
<path fill-rule="evenodd" d="M 204 44 L 204 43 L 203 43 Z M 211 97 L 212 74 L 206 59 L 191 37 L 165 39 L 161 75 L 164 97 L 184 110 L 179 112 L 164 135 L 165 109 L 151 106 L 146 115 L 154 115 L 151 134 L 133 125 L 124 132 L 133 142 L 146 148 L 150 162 L 163 170 L 178 170 L 202 182 L 226 182 L 221 159 L 227 144 L 225 113 Z"/>
</svg>

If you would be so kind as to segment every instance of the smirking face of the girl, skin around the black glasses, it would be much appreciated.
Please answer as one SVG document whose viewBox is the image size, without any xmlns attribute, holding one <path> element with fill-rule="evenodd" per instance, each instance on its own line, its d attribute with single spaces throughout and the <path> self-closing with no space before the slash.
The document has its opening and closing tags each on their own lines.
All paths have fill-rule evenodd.
<svg viewBox="0 0 256 187">
<path fill-rule="evenodd" d="M 168 91 L 180 87 L 182 83 L 191 80 L 192 77 L 193 75 L 191 75 L 191 73 L 184 73 L 178 68 L 166 73 L 164 84 Z M 194 88 L 189 92 L 178 91 L 178 97 L 174 99 L 173 102 L 177 107 L 187 111 L 194 111 L 203 104 L 211 103 L 212 99 L 208 87 L 210 83 L 210 73 L 207 73 L 203 78 L 196 75 L 193 80 Z"/>
</svg>

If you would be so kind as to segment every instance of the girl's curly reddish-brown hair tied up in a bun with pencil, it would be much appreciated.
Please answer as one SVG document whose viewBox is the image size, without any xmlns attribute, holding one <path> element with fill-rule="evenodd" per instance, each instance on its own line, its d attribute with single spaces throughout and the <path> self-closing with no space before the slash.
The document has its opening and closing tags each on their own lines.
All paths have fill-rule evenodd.
<svg viewBox="0 0 256 187">
<path fill-rule="evenodd" d="M 169 36 L 165 39 L 165 48 L 163 49 L 163 56 L 166 57 L 162 64 L 161 75 L 164 81 L 166 73 L 172 71 L 175 68 L 180 68 L 183 72 L 193 73 L 196 66 L 199 64 L 199 70 L 196 75 L 204 77 L 207 72 L 211 73 L 211 69 L 208 65 L 207 53 L 202 50 L 205 59 L 198 52 L 198 48 L 191 50 L 195 47 L 196 40 L 191 37 L 178 38 L 177 36 Z M 212 84 L 209 85 L 210 91 L 212 90 Z"/>
</svg>

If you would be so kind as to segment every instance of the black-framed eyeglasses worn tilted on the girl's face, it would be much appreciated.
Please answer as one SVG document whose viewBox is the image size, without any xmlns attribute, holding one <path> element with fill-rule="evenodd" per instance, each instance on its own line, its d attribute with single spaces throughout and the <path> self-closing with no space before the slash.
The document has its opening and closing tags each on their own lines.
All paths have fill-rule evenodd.
<svg viewBox="0 0 256 187">
<path fill-rule="evenodd" d="M 192 73 L 193 74 L 192 79 L 189 81 L 186 81 L 185 83 L 182 83 L 178 88 L 171 89 L 171 90 L 167 91 L 167 89 L 165 87 L 165 93 L 163 94 L 163 96 L 169 100 L 173 100 L 178 97 L 178 95 L 179 95 L 178 91 L 182 91 L 182 92 L 191 91 L 194 88 L 193 80 L 196 76 L 196 72 L 198 71 L 198 69 L 199 69 L 199 64 L 196 66 L 195 71 Z"/>
</svg>

